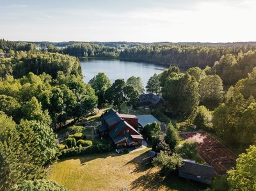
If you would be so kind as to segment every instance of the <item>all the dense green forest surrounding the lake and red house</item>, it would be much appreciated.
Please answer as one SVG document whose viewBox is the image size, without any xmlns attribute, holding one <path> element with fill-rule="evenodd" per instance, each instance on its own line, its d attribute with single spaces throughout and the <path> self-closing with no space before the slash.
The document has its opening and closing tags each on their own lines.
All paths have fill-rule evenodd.
<svg viewBox="0 0 256 191">
<path fill-rule="evenodd" d="M 47 49 L 36 50 L 36 45 L 47 45 Z M 124 104 L 137 107 L 138 97 L 145 91 L 140 77 L 116 79 L 111 84 L 108 76 L 100 72 L 88 84 L 83 82 L 77 57 L 93 56 L 170 66 L 150 77 L 145 87 L 147 92 L 163 96 L 164 105 L 152 108 L 152 114 L 168 123 L 166 138 L 159 142 L 153 141 L 159 126 L 145 128 L 153 147 L 164 151 L 153 163 L 166 172 L 179 165 L 185 155 L 181 151 L 184 148 L 177 147 L 179 123 L 196 125 L 236 153 L 244 153 L 237 160 L 237 168 L 228 171 L 225 178 L 230 190 L 244 187 L 241 179 L 255 180 L 253 167 L 247 169 L 248 174 L 241 170 L 253 165 L 253 157 L 246 156 L 255 156 L 256 152 L 255 48 L 255 43 L 58 44 L 0 40 L 0 52 L 9 54 L 0 57 L 0 190 L 40 185 L 65 190 L 44 180 L 47 167 L 66 154 L 59 153 L 54 131 L 67 127 L 70 119 L 78 121 L 92 114 L 97 107 L 109 104 L 118 111 Z M 179 66 L 188 70 L 181 72 Z M 75 137 L 68 140 L 67 155 L 88 151 L 82 146 L 88 142 L 80 140 L 78 147 Z M 195 149 L 190 143 L 187 147 Z M 99 146 L 90 147 L 88 152 L 93 149 L 102 152 Z M 241 179 L 237 179 L 239 176 Z M 246 187 L 253 185 L 246 182 Z"/>
</svg>

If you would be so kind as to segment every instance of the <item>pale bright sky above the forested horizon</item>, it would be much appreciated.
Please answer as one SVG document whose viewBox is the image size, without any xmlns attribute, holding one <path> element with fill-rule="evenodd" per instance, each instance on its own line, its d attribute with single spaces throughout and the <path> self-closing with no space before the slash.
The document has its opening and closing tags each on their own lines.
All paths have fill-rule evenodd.
<svg viewBox="0 0 256 191">
<path fill-rule="evenodd" d="M 0 38 L 256 41 L 256 0 L 0 0 Z"/>
</svg>

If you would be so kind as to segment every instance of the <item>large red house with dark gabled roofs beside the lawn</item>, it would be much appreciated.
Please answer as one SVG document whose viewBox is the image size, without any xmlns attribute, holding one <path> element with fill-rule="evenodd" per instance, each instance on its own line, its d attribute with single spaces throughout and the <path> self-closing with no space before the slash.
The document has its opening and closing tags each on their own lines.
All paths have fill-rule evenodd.
<svg viewBox="0 0 256 191">
<path fill-rule="evenodd" d="M 116 148 L 141 146 L 143 137 L 138 132 L 138 118 L 134 115 L 119 114 L 110 109 L 102 115 L 99 133 L 108 135 Z"/>
</svg>

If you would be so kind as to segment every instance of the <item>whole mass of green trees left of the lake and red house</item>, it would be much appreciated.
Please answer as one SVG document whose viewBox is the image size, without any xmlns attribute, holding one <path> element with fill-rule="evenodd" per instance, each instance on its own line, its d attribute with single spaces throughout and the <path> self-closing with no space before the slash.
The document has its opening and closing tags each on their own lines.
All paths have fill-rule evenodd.
<svg viewBox="0 0 256 191">
<path fill-rule="evenodd" d="M 15 52 L 0 59 L 0 190 L 45 178 L 45 168 L 58 158 L 53 130 L 97 106 L 97 96 L 90 84 L 84 84 L 76 57 L 17 51 L 16 43 L 6 47 Z M 50 190 L 61 188 L 50 181 L 45 185 Z"/>
</svg>

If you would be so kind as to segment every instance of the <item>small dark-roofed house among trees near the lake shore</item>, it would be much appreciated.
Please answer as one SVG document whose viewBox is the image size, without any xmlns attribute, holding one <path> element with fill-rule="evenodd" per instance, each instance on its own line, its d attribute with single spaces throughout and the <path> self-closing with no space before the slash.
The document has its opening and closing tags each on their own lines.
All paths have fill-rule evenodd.
<svg viewBox="0 0 256 191">
<path fill-rule="evenodd" d="M 158 95 L 155 95 L 154 93 L 145 93 L 140 95 L 137 105 L 138 106 L 149 105 L 153 107 L 158 105 L 159 103 L 164 103 L 163 98 L 161 98 Z"/>
</svg>

